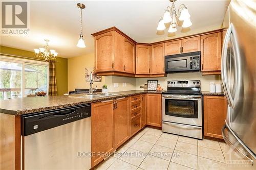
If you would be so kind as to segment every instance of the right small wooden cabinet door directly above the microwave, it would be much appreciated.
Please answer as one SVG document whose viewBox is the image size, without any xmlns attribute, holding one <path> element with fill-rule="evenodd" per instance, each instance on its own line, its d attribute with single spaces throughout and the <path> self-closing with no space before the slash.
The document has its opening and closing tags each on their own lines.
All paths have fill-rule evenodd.
<svg viewBox="0 0 256 170">
<path fill-rule="evenodd" d="M 181 52 L 190 53 L 200 51 L 200 36 L 181 40 Z"/>
</svg>

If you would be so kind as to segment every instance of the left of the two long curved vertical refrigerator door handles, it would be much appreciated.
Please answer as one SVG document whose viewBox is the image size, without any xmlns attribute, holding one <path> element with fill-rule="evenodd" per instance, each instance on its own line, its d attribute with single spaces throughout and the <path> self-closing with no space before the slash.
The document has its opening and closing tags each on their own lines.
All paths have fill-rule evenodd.
<svg viewBox="0 0 256 170">
<path fill-rule="evenodd" d="M 232 23 L 230 24 L 229 29 L 227 30 L 224 43 L 223 43 L 223 48 L 222 48 L 222 54 L 221 54 L 221 79 L 222 79 L 222 84 L 223 84 L 223 89 L 227 97 L 227 102 L 228 105 L 232 108 L 234 108 L 233 100 L 231 97 L 231 92 L 228 89 L 227 85 L 227 50 L 228 50 L 228 42 L 231 36 L 232 32 Z"/>
</svg>

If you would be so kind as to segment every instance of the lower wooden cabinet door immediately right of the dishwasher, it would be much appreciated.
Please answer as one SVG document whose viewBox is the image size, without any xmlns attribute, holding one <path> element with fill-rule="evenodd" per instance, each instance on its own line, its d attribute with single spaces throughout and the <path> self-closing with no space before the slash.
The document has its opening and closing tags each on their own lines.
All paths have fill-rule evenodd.
<svg viewBox="0 0 256 170">
<path fill-rule="evenodd" d="M 92 167 L 115 151 L 113 111 L 113 101 L 92 104 Z"/>
</svg>

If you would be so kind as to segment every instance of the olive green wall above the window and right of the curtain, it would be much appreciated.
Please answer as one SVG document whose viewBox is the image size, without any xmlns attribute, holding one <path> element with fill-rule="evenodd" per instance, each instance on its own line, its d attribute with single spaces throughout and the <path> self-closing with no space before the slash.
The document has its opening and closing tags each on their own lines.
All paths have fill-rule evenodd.
<svg viewBox="0 0 256 170">
<path fill-rule="evenodd" d="M 21 57 L 29 57 L 31 59 L 38 59 L 38 57 L 35 57 L 34 52 L 20 50 L 17 48 L 11 48 L 2 45 L 0 46 L 0 53 Z M 68 59 L 57 57 L 56 61 L 56 81 L 58 95 L 62 95 L 68 92 Z"/>
</svg>

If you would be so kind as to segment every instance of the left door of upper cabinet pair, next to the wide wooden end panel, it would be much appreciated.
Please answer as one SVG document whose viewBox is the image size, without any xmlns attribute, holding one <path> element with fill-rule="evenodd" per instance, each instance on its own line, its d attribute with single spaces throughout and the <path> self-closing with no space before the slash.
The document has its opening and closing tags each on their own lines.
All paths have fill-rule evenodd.
<svg viewBox="0 0 256 170">
<path fill-rule="evenodd" d="M 114 70 L 123 72 L 124 71 L 124 67 L 123 67 L 124 37 L 117 32 L 114 32 L 114 34 L 115 34 Z"/>
</svg>

